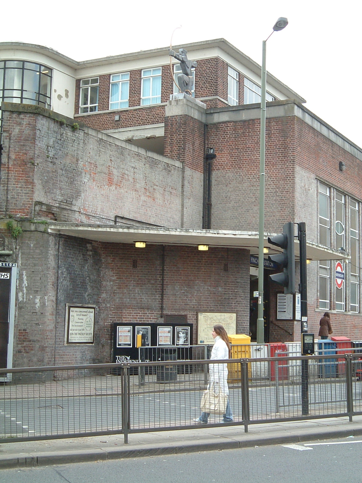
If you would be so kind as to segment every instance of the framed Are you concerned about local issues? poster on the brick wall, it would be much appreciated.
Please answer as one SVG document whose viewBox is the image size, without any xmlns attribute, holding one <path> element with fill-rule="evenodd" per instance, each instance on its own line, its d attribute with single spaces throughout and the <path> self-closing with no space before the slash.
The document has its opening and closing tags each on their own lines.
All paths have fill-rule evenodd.
<svg viewBox="0 0 362 483">
<path fill-rule="evenodd" d="M 66 305 L 66 344 L 94 344 L 96 307 Z"/>
</svg>

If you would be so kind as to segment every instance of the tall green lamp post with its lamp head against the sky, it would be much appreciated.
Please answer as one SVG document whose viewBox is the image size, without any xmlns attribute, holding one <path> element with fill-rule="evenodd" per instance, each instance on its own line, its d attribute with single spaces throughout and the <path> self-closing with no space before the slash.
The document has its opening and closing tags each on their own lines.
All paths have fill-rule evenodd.
<svg viewBox="0 0 362 483">
<path fill-rule="evenodd" d="M 288 25 L 288 20 L 279 17 L 273 27 L 274 32 Z M 270 37 L 269 35 L 269 37 Z M 258 320 L 256 342 L 264 344 L 264 205 L 265 205 L 265 119 L 266 119 L 266 41 L 263 41 L 262 57 L 262 99 L 260 105 L 260 178 L 259 178 L 259 259 L 258 259 Z"/>
</svg>

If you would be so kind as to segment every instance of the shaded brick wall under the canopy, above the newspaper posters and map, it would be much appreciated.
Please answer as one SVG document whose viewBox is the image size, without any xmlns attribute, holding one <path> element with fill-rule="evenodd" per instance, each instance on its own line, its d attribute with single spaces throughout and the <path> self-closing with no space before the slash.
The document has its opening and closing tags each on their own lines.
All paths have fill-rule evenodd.
<svg viewBox="0 0 362 483">
<path fill-rule="evenodd" d="M 133 269 L 137 260 L 137 269 Z M 164 313 L 236 312 L 238 332 L 249 333 L 249 254 L 226 248 L 198 252 L 197 247 L 165 247 Z M 224 271 L 224 263 L 228 271 Z M 157 322 L 161 316 L 162 247 L 103 245 L 102 320 Z"/>
</svg>

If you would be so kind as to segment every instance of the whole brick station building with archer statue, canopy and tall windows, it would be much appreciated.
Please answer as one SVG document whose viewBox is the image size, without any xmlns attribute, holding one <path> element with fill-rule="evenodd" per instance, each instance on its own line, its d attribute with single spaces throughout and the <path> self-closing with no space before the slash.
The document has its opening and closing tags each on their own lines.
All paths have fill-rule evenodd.
<svg viewBox="0 0 362 483">
<path fill-rule="evenodd" d="M 110 362 L 114 323 L 187 322 L 198 343 L 200 313 L 255 339 L 261 68 L 223 39 L 183 47 L 193 97 L 168 48 L 77 62 L 0 43 L 0 367 Z M 362 150 L 270 74 L 267 93 L 265 247 L 306 222 L 309 331 L 328 310 L 362 339 Z M 265 341 L 299 341 L 265 267 Z"/>
</svg>

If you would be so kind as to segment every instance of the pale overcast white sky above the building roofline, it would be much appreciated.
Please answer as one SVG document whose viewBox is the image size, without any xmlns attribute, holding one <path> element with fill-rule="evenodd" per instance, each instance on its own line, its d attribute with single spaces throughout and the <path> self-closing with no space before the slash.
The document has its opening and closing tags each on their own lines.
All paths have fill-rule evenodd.
<svg viewBox="0 0 362 483">
<path fill-rule="evenodd" d="M 224 38 L 261 64 L 262 41 L 278 17 L 287 17 L 289 25 L 267 42 L 267 71 L 362 147 L 355 92 L 361 86 L 361 5 L 358 0 L 19 0 L 16 8 L 11 2 L 1 6 L 0 42 L 35 43 L 88 60 L 166 47 L 171 37 L 173 45 Z"/>
</svg>

